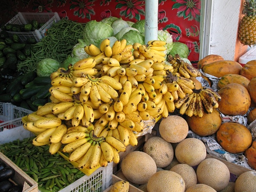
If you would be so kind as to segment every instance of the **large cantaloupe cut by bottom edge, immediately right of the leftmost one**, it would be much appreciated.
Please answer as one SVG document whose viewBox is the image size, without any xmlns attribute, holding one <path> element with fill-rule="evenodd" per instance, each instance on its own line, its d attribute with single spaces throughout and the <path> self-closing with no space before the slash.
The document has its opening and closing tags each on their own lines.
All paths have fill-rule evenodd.
<svg viewBox="0 0 256 192">
<path fill-rule="evenodd" d="M 160 170 L 147 183 L 148 192 L 185 192 L 185 182 L 182 177 L 169 170 Z"/>
</svg>

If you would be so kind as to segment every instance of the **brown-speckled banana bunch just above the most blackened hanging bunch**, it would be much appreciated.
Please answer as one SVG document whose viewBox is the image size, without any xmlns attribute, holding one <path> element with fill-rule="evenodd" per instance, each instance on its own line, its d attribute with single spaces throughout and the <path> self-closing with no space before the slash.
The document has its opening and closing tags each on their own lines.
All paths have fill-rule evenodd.
<svg viewBox="0 0 256 192">
<path fill-rule="evenodd" d="M 168 55 L 167 61 L 172 64 L 174 71 L 173 73 L 179 72 L 179 74 L 187 79 L 194 79 L 196 77 L 200 77 L 201 73 L 199 70 L 194 68 L 192 65 L 189 65 L 187 62 L 182 60 L 178 54 L 174 57 L 172 55 Z"/>
</svg>

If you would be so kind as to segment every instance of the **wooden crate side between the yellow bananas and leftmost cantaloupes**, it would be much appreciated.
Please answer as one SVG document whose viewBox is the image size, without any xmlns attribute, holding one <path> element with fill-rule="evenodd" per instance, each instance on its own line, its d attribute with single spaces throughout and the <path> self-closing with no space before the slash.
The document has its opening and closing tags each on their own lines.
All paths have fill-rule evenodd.
<svg viewBox="0 0 256 192">
<path fill-rule="evenodd" d="M 139 136 L 137 138 L 138 144 L 136 146 L 128 145 L 128 146 L 126 146 L 125 152 L 119 152 L 120 161 L 118 164 L 113 163 L 113 174 L 115 174 L 121 168 L 121 162 L 127 154 L 129 154 L 130 152 L 133 152 L 133 151 L 138 151 L 140 149 L 140 147 L 142 147 L 143 144 L 147 141 L 147 139 L 154 137 L 154 136 L 156 136 L 156 131 L 152 130 L 152 133 L 147 133 L 143 136 Z"/>
</svg>

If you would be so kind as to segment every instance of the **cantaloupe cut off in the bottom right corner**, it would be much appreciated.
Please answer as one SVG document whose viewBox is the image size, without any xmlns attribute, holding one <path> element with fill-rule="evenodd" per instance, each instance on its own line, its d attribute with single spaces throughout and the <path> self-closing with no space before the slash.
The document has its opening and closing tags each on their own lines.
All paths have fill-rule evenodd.
<svg viewBox="0 0 256 192">
<path fill-rule="evenodd" d="M 241 174 L 234 184 L 235 192 L 256 191 L 256 171 L 251 170 Z"/>
</svg>

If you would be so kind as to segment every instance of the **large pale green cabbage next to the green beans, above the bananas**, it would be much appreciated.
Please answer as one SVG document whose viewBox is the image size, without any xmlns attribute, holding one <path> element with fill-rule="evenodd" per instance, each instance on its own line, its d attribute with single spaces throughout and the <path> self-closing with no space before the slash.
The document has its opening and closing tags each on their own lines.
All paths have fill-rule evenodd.
<svg viewBox="0 0 256 192">
<path fill-rule="evenodd" d="M 114 30 L 109 24 L 91 20 L 83 30 L 83 40 L 87 45 L 93 44 L 99 47 L 100 41 L 107 37 L 113 36 Z"/>
</svg>

